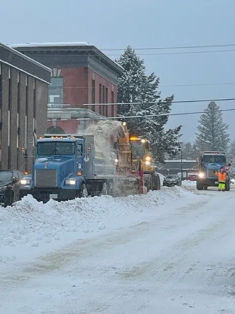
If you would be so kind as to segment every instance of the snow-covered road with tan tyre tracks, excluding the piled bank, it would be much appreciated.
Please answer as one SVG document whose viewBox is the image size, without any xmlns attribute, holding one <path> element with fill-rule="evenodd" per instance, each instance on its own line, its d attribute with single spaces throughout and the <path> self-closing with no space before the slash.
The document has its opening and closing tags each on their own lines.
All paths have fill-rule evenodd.
<svg viewBox="0 0 235 314">
<path fill-rule="evenodd" d="M 235 189 L 182 193 L 134 197 L 124 222 L 100 219 L 110 230 L 19 253 L 0 271 L 0 314 L 235 313 Z"/>
</svg>

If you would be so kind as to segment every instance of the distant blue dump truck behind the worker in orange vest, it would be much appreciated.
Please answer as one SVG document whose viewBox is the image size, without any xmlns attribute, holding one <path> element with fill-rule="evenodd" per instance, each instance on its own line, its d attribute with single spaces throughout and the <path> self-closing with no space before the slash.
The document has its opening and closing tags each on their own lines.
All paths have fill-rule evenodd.
<svg viewBox="0 0 235 314">
<path fill-rule="evenodd" d="M 226 191 L 230 190 L 229 165 L 226 164 L 225 152 L 203 152 L 199 157 L 199 169 L 197 174 L 197 189 L 207 190 L 208 186 L 218 186 L 218 177 L 214 171 L 219 172 L 224 168 L 227 172 Z"/>
</svg>

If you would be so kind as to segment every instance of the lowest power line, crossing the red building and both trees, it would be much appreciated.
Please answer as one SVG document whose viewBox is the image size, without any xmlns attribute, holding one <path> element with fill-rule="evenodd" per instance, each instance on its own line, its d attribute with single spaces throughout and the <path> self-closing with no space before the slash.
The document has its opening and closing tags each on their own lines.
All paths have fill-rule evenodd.
<svg viewBox="0 0 235 314">
<path fill-rule="evenodd" d="M 222 111 L 234 111 L 235 108 L 231 109 L 221 109 L 214 110 L 214 112 L 222 112 Z M 121 116 L 121 117 L 102 117 L 102 118 L 78 118 L 78 119 L 60 119 L 58 121 L 85 121 L 85 120 L 117 120 L 117 119 L 135 119 L 135 118 L 152 118 L 152 117 L 163 117 L 163 116 L 182 116 L 182 115 L 191 115 L 191 114 L 199 114 L 199 113 L 208 113 L 210 110 L 206 111 L 193 111 L 193 112 L 184 112 L 184 113 L 161 113 L 161 114 L 148 114 L 148 115 L 138 115 L 138 116 Z M 50 121 L 57 121 L 56 119 L 50 119 Z"/>
</svg>

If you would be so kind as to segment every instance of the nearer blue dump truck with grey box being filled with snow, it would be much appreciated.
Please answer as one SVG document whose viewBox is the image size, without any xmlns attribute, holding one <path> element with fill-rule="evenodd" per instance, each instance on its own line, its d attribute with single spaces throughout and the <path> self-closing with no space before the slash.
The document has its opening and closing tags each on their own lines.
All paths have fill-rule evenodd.
<svg viewBox="0 0 235 314">
<path fill-rule="evenodd" d="M 22 151 L 27 158 L 25 146 Z M 21 180 L 20 199 L 31 194 L 46 203 L 113 195 L 116 156 L 95 151 L 94 135 L 45 134 L 37 140 L 31 157 L 33 171 Z"/>
</svg>

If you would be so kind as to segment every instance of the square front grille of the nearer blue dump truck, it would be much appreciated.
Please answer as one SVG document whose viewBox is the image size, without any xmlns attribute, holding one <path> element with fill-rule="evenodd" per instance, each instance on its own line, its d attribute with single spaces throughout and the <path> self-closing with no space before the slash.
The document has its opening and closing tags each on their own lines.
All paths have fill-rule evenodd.
<svg viewBox="0 0 235 314">
<path fill-rule="evenodd" d="M 56 187 L 56 169 L 36 169 L 35 186 L 37 187 Z"/>
</svg>

